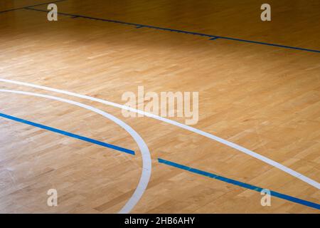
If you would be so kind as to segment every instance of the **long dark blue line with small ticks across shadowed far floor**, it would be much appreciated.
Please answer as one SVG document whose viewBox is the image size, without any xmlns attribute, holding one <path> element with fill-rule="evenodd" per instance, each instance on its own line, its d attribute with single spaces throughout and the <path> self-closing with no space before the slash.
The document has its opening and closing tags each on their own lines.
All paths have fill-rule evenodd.
<svg viewBox="0 0 320 228">
<path fill-rule="evenodd" d="M 32 7 L 32 6 L 31 6 Z M 31 7 L 26 7 L 24 9 L 28 10 L 34 10 L 34 11 L 41 11 L 41 12 L 48 12 L 46 10 L 42 9 L 34 9 Z M 178 30 L 178 29 L 173 29 L 173 28 L 163 28 L 163 27 L 157 27 L 157 26 L 148 26 L 145 24 L 135 24 L 135 23 L 130 23 L 130 22 L 125 22 L 125 21 L 116 21 L 116 20 L 110 20 L 110 19 L 101 19 L 97 17 L 92 17 L 92 16 L 83 16 L 83 15 L 78 15 L 78 14 L 66 14 L 66 13 L 60 13 L 58 14 L 63 15 L 63 16 L 71 16 L 72 18 L 82 18 L 82 19 L 90 19 L 90 20 L 96 20 L 96 21 L 105 21 L 105 22 L 111 22 L 111 23 L 117 23 L 117 24 L 124 24 L 128 26 L 135 26 L 136 28 L 154 28 L 157 30 L 161 31 L 171 31 L 171 32 L 176 32 L 176 33 L 186 33 L 189 35 L 195 35 L 195 36 L 205 36 L 208 37 L 210 40 L 215 40 L 215 39 L 225 39 L 225 40 L 230 40 L 230 41 L 240 41 L 240 42 L 245 42 L 245 43 L 256 43 L 260 45 L 266 45 L 266 46 L 274 46 L 278 48 L 289 48 L 289 49 L 294 49 L 294 50 L 299 50 L 299 51 L 310 51 L 310 52 L 315 52 L 315 53 L 320 53 L 319 50 L 314 50 L 314 49 L 308 49 L 308 48 L 299 48 L 299 47 L 294 47 L 294 46 L 285 46 L 282 44 L 276 44 L 276 43 L 265 43 L 265 42 L 260 42 L 260 41 L 250 41 L 250 40 L 245 40 L 241 38 L 232 38 L 232 37 L 227 37 L 227 36 L 214 36 L 206 33 L 196 33 L 192 31 L 183 31 L 183 30 Z"/>
</svg>

